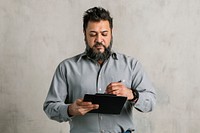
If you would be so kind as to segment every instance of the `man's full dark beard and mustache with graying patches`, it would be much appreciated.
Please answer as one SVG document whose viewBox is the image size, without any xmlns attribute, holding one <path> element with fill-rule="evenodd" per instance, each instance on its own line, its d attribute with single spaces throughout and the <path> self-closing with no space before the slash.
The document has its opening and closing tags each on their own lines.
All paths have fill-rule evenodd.
<svg viewBox="0 0 200 133">
<path fill-rule="evenodd" d="M 89 47 L 87 41 L 85 40 L 86 42 L 86 55 L 95 60 L 95 61 L 102 61 L 104 62 L 105 60 L 107 60 L 110 55 L 111 55 L 111 48 L 112 48 L 112 39 L 111 39 L 111 42 L 110 42 L 110 45 L 108 46 L 108 48 L 106 48 L 106 46 L 104 46 L 102 43 L 100 42 L 97 42 L 94 44 L 94 46 L 92 48 Z M 104 52 L 100 52 L 100 51 L 97 51 L 95 52 L 95 47 L 97 46 L 103 46 L 104 47 Z"/>
</svg>

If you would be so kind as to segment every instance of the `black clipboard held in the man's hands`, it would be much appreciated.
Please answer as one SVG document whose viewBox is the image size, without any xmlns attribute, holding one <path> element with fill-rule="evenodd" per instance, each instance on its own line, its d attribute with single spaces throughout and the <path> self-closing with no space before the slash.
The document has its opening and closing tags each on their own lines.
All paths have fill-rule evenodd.
<svg viewBox="0 0 200 133">
<path fill-rule="evenodd" d="M 112 94 L 85 94 L 83 101 L 99 104 L 99 108 L 89 113 L 120 114 L 127 97 Z"/>
</svg>

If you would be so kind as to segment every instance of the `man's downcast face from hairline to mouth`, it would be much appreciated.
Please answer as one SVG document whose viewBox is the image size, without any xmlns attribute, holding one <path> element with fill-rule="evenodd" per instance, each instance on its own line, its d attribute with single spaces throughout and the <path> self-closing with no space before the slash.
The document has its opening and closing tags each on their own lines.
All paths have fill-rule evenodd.
<svg viewBox="0 0 200 133">
<path fill-rule="evenodd" d="M 93 49 L 95 53 L 105 52 L 105 47 L 111 43 L 112 33 L 109 21 L 101 20 L 100 22 L 88 22 L 85 39 L 87 45 Z M 96 45 L 101 43 L 102 45 Z"/>
</svg>

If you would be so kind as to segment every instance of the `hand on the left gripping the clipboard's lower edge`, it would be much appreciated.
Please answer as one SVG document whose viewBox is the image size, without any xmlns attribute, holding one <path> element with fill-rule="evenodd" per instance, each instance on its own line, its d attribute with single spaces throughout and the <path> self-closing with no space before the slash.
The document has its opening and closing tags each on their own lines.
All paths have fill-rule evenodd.
<svg viewBox="0 0 200 133">
<path fill-rule="evenodd" d="M 91 102 L 84 102 L 83 99 L 77 99 L 74 103 L 69 105 L 69 116 L 85 115 L 87 112 L 98 109 L 98 104 L 92 104 Z"/>
</svg>

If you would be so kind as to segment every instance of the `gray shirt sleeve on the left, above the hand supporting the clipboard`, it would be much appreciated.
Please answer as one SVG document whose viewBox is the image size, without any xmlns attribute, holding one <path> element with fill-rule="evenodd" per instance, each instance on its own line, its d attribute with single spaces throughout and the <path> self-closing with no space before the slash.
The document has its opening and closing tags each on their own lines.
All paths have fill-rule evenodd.
<svg viewBox="0 0 200 133">
<path fill-rule="evenodd" d="M 43 105 L 46 115 L 58 122 L 71 120 L 67 113 L 69 104 L 65 104 L 68 95 L 65 71 L 61 64 L 57 67 Z"/>
</svg>

